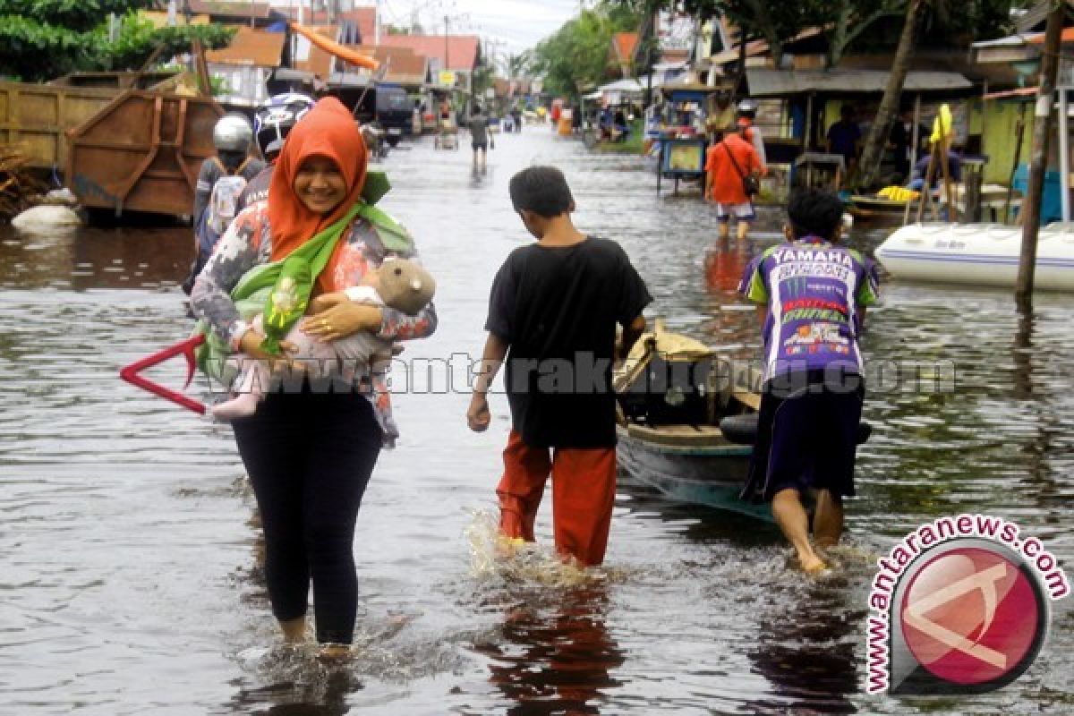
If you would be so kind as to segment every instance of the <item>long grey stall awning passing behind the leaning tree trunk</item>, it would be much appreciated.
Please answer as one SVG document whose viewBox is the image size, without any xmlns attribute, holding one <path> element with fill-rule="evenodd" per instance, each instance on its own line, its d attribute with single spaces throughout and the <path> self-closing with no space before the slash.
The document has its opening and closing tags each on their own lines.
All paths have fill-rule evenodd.
<svg viewBox="0 0 1074 716">
<path fill-rule="evenodd" d="M 794 94 L 883 94 L 888 72 L 881 70 L 746 69 L 750 97 Z M 957 72 L 910 72 L 904 92 L 962 92 L 973 83 Z"/>
</svg>

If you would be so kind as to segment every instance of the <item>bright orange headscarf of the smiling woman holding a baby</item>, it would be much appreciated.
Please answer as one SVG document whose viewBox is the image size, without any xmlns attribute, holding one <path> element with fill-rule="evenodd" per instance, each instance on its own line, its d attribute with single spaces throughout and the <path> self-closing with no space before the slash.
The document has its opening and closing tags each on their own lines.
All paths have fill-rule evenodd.
<svg viewBox="0 0 1074 716">
<path fill-rule="evenodd" d="M 334 161 L 347 184 L 347 198 L 328 215 L 310 211 L 294 193 L 294 177 L 310 157 Z M 268 185 L 273 261 L 287 258 L 354 205 L 365 185 L 366 163 L 365 142 L 350 112 L 333 97 L 320 100 L 288 133 Z M 336 253 L 340 246 L 336 246 Z M 325 269 L 317 281 L 323 291 L 330 290 L 328 275 Z"/>
</svg>

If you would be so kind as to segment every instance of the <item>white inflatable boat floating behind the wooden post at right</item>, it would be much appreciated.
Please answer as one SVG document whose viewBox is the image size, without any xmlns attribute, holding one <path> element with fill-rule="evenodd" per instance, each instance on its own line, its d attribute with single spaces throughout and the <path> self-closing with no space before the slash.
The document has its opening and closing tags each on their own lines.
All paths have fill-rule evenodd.
<svg viewBox="0 0 1074 716">
<path fill-rule="evenodd" d="M 888 236 L 875 255 L 896 278 L 1014 287 L 1020 252 L 1020 227 L 916 223 Z M 1074 291 L 1074 223 L 1041 230 L 1034 284 Z"/>
</svg>

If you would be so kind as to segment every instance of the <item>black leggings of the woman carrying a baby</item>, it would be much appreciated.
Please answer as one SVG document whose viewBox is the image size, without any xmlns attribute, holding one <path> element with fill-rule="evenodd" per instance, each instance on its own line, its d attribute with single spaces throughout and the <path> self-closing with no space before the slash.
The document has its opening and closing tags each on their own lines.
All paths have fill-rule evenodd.
<svg viewBox="0 0 1074 716">
<path fill-rule="evenodd" d="M 351 643 L 354 522 L 381 444 L 373 406 L 355 393 L 274 393 L 233 426 L 264 526 L 273 614 L 304 616 L 313 578 L 317 641 Z"/>
</svg>

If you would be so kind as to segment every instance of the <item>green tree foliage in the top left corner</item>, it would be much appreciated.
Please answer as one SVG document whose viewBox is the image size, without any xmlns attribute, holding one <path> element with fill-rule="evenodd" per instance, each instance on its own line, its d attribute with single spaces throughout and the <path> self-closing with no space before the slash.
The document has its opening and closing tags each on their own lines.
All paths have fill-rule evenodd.
<svg viewBox="0 0 1074 716">
<path fill-rule="evenodd" d="M 160 58 L 188 52 L 192 39 L 222 47 L 233 30 L 216 25 L 154 28 L 136 11 L 153 0 L 0 0 L 0 75 L 50 79 L 78 71 L 136 70 L 158 47 Z M 108 14 L 121 19 L 110 40 Z"/>
</svg>

